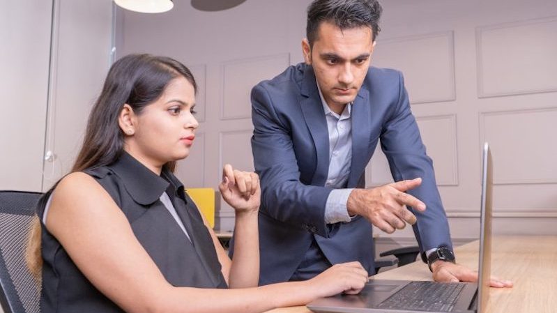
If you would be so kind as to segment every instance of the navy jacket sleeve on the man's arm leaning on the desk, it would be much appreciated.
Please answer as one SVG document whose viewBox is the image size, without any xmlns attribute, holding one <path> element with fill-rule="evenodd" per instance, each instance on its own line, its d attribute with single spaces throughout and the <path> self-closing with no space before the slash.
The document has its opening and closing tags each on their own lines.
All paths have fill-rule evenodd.
<svg viewBox="0 0 557 313">
<path fill-rule="evenodd" d="M 452 249 L 447 217 L 437 190 L 432 159 L 422 144 L 420 131 L 411 113 L 408 94 L 399 73 L 399 100 L 381 132 L 381 148 L 389 162 L 395 181 L 422 178 L 422 184 L 409 194 L 422 200 L 427 209 L 423 213 L 409 208 L 417 217 L 413 231 L 420 245 L 422 259 L 425 251 L 445 245 Z"/>
</svg>

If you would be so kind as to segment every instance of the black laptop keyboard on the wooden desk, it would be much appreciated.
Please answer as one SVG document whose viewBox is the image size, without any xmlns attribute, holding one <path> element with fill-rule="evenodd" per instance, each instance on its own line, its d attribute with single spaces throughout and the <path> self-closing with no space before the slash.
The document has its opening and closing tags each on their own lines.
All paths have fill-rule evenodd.
<svg viewBox="0 0 557 313">
<path fill-rule="evenodd" d="M 464 283 L 411 282 L 379 304 L 379 309 L 452 312 Z"/>
</svg>

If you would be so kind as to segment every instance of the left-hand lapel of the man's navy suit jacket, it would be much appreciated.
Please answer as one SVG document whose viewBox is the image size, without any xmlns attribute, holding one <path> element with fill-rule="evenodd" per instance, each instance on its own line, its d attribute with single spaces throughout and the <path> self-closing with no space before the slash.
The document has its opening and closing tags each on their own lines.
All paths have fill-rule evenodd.
<svg viewBox="0 0 557 313">
<path fill-rule="evenodd" d="M 312 134 L 312 140 L 317 153 L 317 165 L 312 178 L 312 185 L 325 185 L 329 171 L 329 130 L 311 66 L 305 67 L 301 93 L 300 107 L 307 128 Z"/>
</svg>

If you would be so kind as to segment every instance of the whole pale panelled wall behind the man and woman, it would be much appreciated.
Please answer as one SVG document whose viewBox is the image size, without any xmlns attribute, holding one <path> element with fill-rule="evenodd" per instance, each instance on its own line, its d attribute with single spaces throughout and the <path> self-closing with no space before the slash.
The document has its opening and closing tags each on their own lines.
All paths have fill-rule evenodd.
<svg viewBox="0 0 557 313">
<path fill-rule="evenodd" d="M 216 188 L 223 162 L 252 169 L 249 92 L 301 61 L 309 1 L 246 1 L 203 13 L 188 1 L 162 15 L 123 13 L 119 53 L 167 54 L 201 80 L 201 127 L 179 175 Z M 373 63 L 404 72 L 434 159 L 456 242 L 478 237 L 480 147 L 495 160 L 497 233 L 557 234 L 557 3 L 553 0 L 383 1 Z M 381 153 L 371 187 L 391 181 Z M 231 229 L 223 206 L 221 227 Z M 411 244 L 410 229 L 380 243 Z"/>
</svg>

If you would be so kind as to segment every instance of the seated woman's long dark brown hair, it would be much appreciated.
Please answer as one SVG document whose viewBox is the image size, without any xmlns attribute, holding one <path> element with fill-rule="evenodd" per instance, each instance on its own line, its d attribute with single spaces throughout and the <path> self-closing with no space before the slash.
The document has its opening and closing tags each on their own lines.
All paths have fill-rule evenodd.
<svg viewBox="0 0 557 313">
<path fill-rule="evenodd" d="M 135 114 L 141 114 L 144 107 L 162 96 L 169 82 L 176 77 L 187 79 L 197 92 L 192 72 L 169 57 L 130 54 L 116 61 L 91 109 L 83 144 L 71 171 L 83 171 L 115 162 L 124 146 L 124 134 L 118 123 L 123 105 L 128 104 Z M 168 162 L 165 167 L 174 171 L 175 162 Z M 31 273 L 40 279 L 43 258 L 40 254 L 41 230 L 38 218 L 35 218 L 32 227 L 26 257 Z"/>
</svg>

